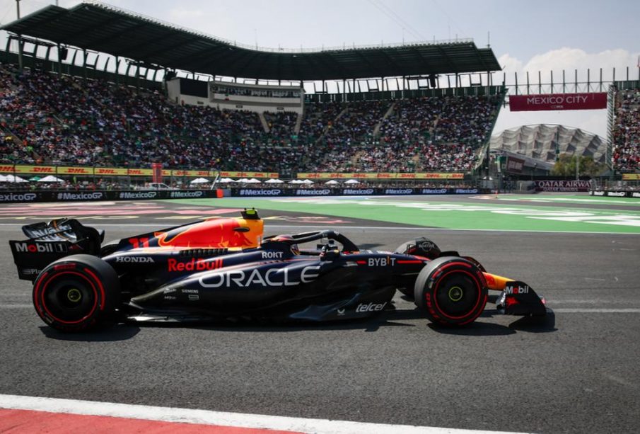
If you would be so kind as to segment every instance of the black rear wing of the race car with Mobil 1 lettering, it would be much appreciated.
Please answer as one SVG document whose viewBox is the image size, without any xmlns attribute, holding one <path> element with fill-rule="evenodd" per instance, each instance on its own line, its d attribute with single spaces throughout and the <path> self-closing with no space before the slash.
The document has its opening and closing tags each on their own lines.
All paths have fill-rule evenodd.
<svg viewBox="0 0 640 434">
<path fill-rule="evenodd" d="M 83 226 L 76 219 L 55 219 L 51 222 L 27 224 L 23 241 L 9 241 L 18 277 L 35 280 L 47 265 L 64 256 L 85 253 L 98 255 L 105 232 Z"/>
</svg>

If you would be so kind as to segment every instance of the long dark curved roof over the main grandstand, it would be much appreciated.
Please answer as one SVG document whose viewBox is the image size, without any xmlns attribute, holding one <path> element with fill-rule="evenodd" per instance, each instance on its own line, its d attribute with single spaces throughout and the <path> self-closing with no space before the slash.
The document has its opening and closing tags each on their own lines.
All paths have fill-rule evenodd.
<svg viewBox="0 0 640 434">
<path fill-rule="evenodd" d="M 98 2 L 46 6 L 2 27 L 50 42 L 127 57 L 156 69 L 272 80 L 339 80 L 491 72 L 491 48 L 472 40 L 315 50 L 258 50 Z"/>
</svg>

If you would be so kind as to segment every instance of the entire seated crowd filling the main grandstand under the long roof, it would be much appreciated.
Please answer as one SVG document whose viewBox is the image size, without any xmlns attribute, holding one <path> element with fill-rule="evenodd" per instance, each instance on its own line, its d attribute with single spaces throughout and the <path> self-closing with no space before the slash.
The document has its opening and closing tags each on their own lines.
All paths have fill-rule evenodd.
<svg viewBox="0 0 640 434">
<path fill-rule="evenodd" d="M 171 169 L 281 173 L 467 171 L 490 134 L 496 101 L 308 103 L 296 132 L 296 113 L 265 113 L 265 129 L 257 113 L 177 105 L 157 91 L 0 64 L 0 162 L 158 162 Z"/>
</svg>

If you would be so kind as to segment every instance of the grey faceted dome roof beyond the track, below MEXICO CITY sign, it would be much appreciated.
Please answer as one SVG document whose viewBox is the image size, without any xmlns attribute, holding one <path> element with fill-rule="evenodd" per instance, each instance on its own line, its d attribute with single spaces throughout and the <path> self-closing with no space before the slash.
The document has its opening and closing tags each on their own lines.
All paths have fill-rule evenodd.
<svg viewBox="0 0 640 434">
<path fill-rule="evenodd" d="M 504 150 L 553 164 L 559 154 L 593 156 L 605 163 L 607 142 L 602 137 L 564 125 L 523 125 L 492 136 L 491 150 Z"/>
</svg>

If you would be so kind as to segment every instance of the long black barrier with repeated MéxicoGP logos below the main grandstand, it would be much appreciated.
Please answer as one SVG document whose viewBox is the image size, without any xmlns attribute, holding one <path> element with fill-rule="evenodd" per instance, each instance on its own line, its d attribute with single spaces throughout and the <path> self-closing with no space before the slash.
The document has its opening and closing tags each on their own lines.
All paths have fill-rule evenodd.
<svg viewBox="0 0 640 434">
<path fill-rule="evenodd" d="M 473 195 L 481 188 L 228 188 L 218 190 L 0 191 L 0 203 L 99 200 L 213 199 L 231 196 Z"/>
</svg>

